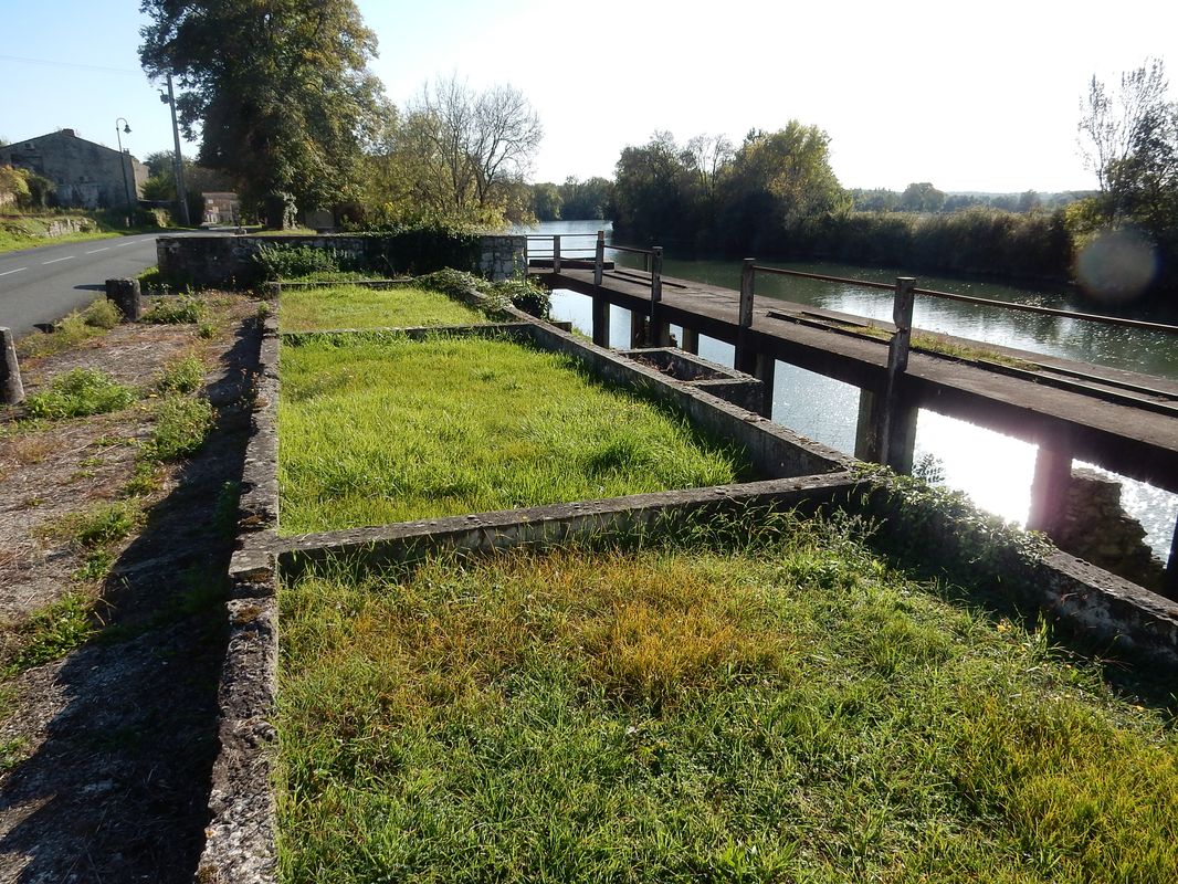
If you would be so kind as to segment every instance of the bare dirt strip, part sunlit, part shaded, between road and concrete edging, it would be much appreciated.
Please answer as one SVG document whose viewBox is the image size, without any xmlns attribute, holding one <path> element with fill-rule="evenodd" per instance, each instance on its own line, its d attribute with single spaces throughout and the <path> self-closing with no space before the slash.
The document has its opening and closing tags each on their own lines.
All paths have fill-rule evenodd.
<svg viewBox="0 0 1178 884">
<path fill-rule="evenodd" d="M 0 882 L 190 882 L 204 842 L 225 652 L 224 573 L 249 429 L 257 303 L 206 298 L 216 334 L 127 325 L 24 368 L 29 392 L 102 369 L 145 398 L 123 411 L 28 430 L 0 423 Z M 207 334 L 207 331 L 206 331 Z M 157 470 L 145 519 L 101 580 L 70 528 L 127 497 L 152 429 L 146 388 L 184 355 L 205 365 L 217 428 Z M 218 520 L 217 513 L 223 516 Z M 84 599 L 90 638 L 41 665 L 19 661 L 31 622 Z"/>
</svg>

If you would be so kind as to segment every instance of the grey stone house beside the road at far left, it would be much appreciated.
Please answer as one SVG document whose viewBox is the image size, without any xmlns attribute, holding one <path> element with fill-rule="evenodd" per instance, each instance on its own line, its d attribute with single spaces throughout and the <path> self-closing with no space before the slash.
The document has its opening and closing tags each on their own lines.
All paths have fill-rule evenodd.
<svg viewBox="0 0 1178 884">
<path fill-rule="evenodd" d="M 0 166 L 48 178 L 59 205 L 81 209 L 133 207 L 148 176 L 128 151 L 87 141 L 72 128 L 0 147 Z"/>
</svg>

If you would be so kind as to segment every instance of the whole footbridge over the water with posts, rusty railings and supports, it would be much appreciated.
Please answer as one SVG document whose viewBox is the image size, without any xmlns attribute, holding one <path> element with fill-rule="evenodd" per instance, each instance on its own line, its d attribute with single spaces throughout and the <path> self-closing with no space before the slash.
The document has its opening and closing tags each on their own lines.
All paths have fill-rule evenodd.
<svg viewBox="0 0 1178 884">
<path fill-rule="evenodd" d="M 562 253 L 560 237 L 551 239 L 551 257 L 530 262 L 529 273 L 549 288 L 593 298 L 596 344 L 609 345 L 611 305 L 630 311 L 635 347 L 667 345 L 670 325 L 681 326 L 679 344 L 690 352 L 697 352 L 700 335 L 733 344 L 736 368 L 765 384 L 762 413 L 767 416 L 777 359 L 853 384 L 861 390 L 856 457 L 911 471 L 921 408 L 1037 444 L 1031 528 L 1052 533 L 1073 459 L 1178 493 L 1178 383 L 946 335 L 927 334 L 926 339 L 934 342 L 931 347 L 909 345 L 915 297 L 1146 328 L 1174 335 L 1178 343 L 1176 326 L 928 291 L 907 278 L 892 286 L 816 277 L 894 290 L 894 323 L 876 323 L 777 297 L 755 297 L 759 273 L 814 275 L 748 259 L 737 291 L 664 277 L 657 248 L 609 246 L 644 257 L 646 270 L 630 270 L 604 260 L 601 233 L 593 249 L 581 250 L 589 251 L 589 258 L 569 258 Z M 1178 598 L 1178 530 L 1165 591 Z"/>
</svg>

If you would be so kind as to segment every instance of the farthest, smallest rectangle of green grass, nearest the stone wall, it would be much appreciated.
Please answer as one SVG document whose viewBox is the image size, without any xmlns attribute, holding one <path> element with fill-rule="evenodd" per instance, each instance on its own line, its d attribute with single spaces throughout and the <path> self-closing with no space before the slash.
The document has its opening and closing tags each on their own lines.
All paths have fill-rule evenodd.
<svg viewBox="0 0 1178 884">
<path fill-rule="evenodd" d="M 416 325 L 471 325 L 487 317 L 442 292 L 415 286 L 369 289 L 336 285 L 284 289 L 279 322 L 283 331 L 312 329 L 403 329 Z"/>
</svg>

